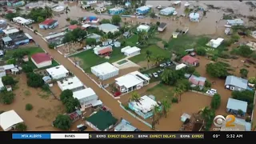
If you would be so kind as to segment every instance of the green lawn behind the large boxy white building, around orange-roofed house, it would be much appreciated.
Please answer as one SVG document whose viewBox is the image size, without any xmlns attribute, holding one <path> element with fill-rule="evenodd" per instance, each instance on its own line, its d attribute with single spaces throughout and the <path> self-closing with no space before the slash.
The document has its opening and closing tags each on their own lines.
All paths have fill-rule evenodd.
<svg viewBox="0 0 256 144">
<path fill-rule="evenodd" d="M 121 53 L 121 50 L 114 48 L 112 54 L 110 54 L 110 59 L 101 58 L 98 55 L 94 54 L 94 50 L 86 50 L 82 53 L 75 54 L 72 57 L 79 58 L 82 60 L 82 69 L 86 72 L 90 72 L 90 67 L 96 66 L 103 62 L 116 62 L 122 58 L 126 58 L 124 54 Z"/>
</svg>

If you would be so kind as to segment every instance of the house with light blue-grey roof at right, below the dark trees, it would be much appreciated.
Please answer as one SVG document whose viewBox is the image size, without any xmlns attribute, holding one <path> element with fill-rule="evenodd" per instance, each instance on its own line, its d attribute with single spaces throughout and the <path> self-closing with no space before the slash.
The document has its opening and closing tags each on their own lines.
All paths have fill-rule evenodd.
<svg viewBox="0 0 256 144">
<path fill-rule="evenodd" d="M 253 90 L 248 86 L 248 80 L 244 78 L 238 78 L 234 75 L 226 77 L 225 88 L 228 90 Z"/>
</svg>

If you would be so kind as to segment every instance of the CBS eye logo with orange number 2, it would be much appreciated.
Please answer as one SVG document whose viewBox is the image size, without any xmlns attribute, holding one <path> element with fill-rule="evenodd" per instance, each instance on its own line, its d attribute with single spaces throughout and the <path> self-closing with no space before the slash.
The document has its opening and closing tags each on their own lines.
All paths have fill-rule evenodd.
<svg viewBox="0 0 256 144">
<path fill-rule="evenodd" d="M 214 126 L 217 127 L 233 127 L 234 126 L 235 117 L 234 115 L 228 115 L 226 118 L 224 118 L 222 115 L 217 115 L 214 118 Z"/>
</svg>

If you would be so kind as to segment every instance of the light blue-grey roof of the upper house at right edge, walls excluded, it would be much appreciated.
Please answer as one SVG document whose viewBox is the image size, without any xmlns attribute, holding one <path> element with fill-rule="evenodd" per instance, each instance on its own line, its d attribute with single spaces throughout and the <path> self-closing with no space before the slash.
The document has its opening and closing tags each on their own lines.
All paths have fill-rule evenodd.
<svg viewBox="0 0 256 144">
<path fill-rule="evenodd" d="M 247 79 L 238 78 L 238 77 L 235 77 L 234 75 L 229 75 L 226 77 L 225 86 L 231 85 L 231 86 L 240 87 L 242 89 L 247 89 L 248 87 L 247 83 L 248 83 Z"/>
</svg>

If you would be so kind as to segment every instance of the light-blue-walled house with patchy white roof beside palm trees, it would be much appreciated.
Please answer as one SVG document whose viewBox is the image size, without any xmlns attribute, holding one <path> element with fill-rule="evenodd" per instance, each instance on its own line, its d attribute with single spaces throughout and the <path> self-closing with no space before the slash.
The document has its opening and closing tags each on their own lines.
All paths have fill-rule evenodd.
<svg viewBox="0 0 256 144">
<path fill-rule="evenodd" d="M 147 95 L 142 96 L 138 101 L 129 102 L 128 106 L 130 110 L 133 110 L 144 119 L 150 118 L 153 115 L 154 106 L 158 106 L 158 109 L 162 110 L 161 103 L 156 102 Z"/>
</svg>

